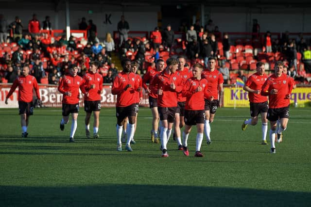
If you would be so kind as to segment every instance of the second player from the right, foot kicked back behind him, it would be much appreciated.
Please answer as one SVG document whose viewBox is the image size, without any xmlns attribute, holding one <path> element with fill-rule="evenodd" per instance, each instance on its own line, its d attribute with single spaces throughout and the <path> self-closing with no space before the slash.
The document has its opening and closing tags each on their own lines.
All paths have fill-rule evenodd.
<svg viewBox="0 0 311 207">
<path fill-rule="evenodd" d="M 260 91 L 263 83 L 267 80 L 268 76 L 264 73 L 264 63 L 258 62 L 256 64 L 256 73 L 251 75 L 243 89 L 248 92 L 248 99 L 251 111 L 251 118 L 245 119 L 242 124 L 242 130 L 244 131 L 248 125 L 255 126 L 258 122 L 258 115 L 261 116 L 261 131 L 262 131 L 262 142 L 261 144 L 267 144 L 266 137 L 268 131 L 268 97 L 261 96 Z"/>
</svg>

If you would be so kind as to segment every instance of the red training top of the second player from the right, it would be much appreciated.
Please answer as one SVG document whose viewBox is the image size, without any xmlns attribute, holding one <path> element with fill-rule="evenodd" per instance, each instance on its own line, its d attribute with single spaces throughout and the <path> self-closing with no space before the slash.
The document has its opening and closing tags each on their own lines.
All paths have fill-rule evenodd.
<svg viewBox="0 0 311 207">
<path fill-rule="evenodd" d="M 253 90 L 261 91 L 261 87 L 267 79 L 268 79 L 268 76 L 266 74 L 263 74 L 262 76 L 260 76 L 258 73 L 254 73 L 247 79 L 245 86 L 248 86 L 249 88 Z M 262 103 L 262 102 L 267 101 L 268 97 L 262 96 L 261 94 L 255 94 L 255 93 L 248 92 L 248 99 L 249 99 L 249 102 L 252 102 L 252 103 Z"/>
</svg>

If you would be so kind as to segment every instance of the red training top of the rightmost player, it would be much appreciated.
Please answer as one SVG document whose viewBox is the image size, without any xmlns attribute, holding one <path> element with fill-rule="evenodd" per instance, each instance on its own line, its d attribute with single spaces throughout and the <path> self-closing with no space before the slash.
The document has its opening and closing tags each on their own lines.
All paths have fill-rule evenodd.
<svg viewBox="0 0 311 207">
<path fill-rule="evenodd" d="M 262 85 L 261 95 L 269 95 L 269 108 L 277 109 L 290 105 L 290 99 L 286 96 L 292 93 L 293 80 L 290 76 L 282 74 L 276 77 L 275 74 L 270 76 Z M 271 94 L 272 89 L 277 89 L 277 94 Z"/>
</svg>

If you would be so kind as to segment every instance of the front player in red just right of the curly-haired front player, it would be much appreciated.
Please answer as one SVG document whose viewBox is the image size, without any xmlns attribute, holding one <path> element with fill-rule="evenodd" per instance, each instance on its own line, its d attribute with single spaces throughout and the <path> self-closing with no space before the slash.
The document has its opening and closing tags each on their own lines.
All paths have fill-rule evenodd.
<svg viewBox="0 0 311 207">
<path fill-rule="evenodd" d="M 205 101 L 204 91 L 207 88 L 207 80 L 201 78 L 203 71 L 202 64 L 194 64 L 192 67 L 193 77 L 188 79 L 182 90 L 183 96 L 186 97 L 185 105 L 185 129 L 183 131 L 183 152 L 184 155 L 189 156 L 188 151 L 188 137 L 192 125 L 196 125 L 196 149 L 194 157 L 203 157 L 200 152 L 203 141 L 203 131 L 205 123 Z"/>
</svg>

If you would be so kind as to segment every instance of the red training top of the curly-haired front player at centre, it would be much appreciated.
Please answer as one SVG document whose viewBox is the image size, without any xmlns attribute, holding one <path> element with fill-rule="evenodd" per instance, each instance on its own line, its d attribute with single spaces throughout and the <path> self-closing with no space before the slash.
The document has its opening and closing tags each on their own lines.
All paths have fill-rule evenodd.
<svg viewBox="0 0 311 207">
<path fill-rule="evenodd" d="M 175 89 L 170 88 L 171 83 L 175 84 Z M 166 70 L 161 71 L 155 75 L 151 84 L 157 84 L 158 88 L 163 90 L 162 95 L 157 96 L 157 105 L 159 107 L 177 107 L 177 93 L 183 89 L 182 80 L 177 71 L 171 74 L 168 74 Z M 153 93 L 157 93 L 157 91 Z"/>
</svg>

